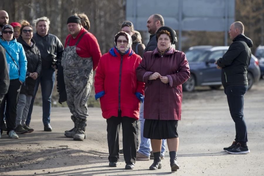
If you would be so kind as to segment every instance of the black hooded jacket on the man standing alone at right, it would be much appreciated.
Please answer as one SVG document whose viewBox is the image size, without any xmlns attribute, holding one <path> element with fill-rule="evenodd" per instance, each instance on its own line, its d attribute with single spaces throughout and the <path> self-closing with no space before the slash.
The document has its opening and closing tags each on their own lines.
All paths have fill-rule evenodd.
<svg viewBox="0 0 264 176">
<path fill-rule="evenodd" d="M 221 79 L 224 87 L 248 85 L 247 73 L 252 46 L 253 42 L 250 38 L 239 34 L 233 39 L 224 56 L 217 60 L 217 65 L 222 67 Z"/>
</svg>

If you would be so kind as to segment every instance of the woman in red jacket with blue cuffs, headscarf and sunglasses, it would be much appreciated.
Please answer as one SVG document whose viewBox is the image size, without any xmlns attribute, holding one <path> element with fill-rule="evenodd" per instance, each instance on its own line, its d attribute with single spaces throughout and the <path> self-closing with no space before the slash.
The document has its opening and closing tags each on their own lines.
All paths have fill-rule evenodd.
<svg viewBox="0 0 264 176">
<path fill-rule="evenodd" d="M 116 167 L 119 160 L 119 129 L 123 129 L 125 169 L 133 169 L 136 162 L 136 120 L 139 104 L 143 102 L 144 83 L 136 78 L 141 57 L 131 49 L 132 38 L 119 32 L 115 47 L 104 54 L 94 77 L 95 99 L 100 98 L 102 115 L 107 122 L 109 166 Z"/>
</svg>

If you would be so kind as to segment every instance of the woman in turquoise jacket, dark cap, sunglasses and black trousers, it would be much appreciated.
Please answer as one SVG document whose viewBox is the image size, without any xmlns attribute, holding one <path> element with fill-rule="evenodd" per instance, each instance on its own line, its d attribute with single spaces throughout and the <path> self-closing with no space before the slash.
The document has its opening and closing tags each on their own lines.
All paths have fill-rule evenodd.
<svg viewBox="0 0 264 176">
<path fill-rule="evenodd" d="M 21 85 L 26 79 L 27 59 L 21 43 L 17 43 L 13 36 L 14 29 L 10 25 L 2 28 L 2 38 L 0 44 L 6 50 L 6 62 L 9 70 L 10 84 L 0 106 L 0 128 L 3 124 L 4 105 L 6 103 L 6 126 L 9 138 L 18 139 L 15 133 L 16 127 L 16 107 Z M 1 133 L 2 130 L 0 129 Z"/>
</svg>

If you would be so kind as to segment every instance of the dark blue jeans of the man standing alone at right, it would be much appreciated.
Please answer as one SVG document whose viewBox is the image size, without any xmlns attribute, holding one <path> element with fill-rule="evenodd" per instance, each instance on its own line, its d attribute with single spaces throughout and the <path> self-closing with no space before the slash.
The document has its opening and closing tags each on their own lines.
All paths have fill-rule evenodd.
<svg viewBox="0 0 264 176">
<path fill-rule="evenodd" d="M 224 89 L 229 111 L 233 121 L 235 122 L 235 141 L 238 141 L 239 143 L 246 143 L 248 141 L 247 126 L 243 114 L 244 94 L 247 89 L 247 86 L 229 86 Z"/>
</svg>

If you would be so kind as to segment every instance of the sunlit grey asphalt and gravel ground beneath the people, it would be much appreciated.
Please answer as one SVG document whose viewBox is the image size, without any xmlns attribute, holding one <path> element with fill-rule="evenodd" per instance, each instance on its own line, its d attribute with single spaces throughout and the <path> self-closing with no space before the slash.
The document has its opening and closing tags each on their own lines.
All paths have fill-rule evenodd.
<svg viewBox="0 0 264 176">
<path fill-rule="evenodd" d="M 93 97 L 92 97 L 93 98 Z M 248 127 L 249 154 L 232 155 L 223 151 L 231 145 L 235 126 L 223 88 L 198 88 L 183 92 L 182 120 L 178 125 L 180 170 L 170 172 L 168 150 L 163 167 L 148 170 L 150 161 L 137 161 L 134 170 L 125 170 L 123 155 L 118 167 L 108 167 L 106 120 L 101 109 L 89 108 L 87 139 L 83 142 L 64 137 L 73 127 L 68 108 L 53 108 L 52 132 L 44 132 L 42 108 L 35 106 L 33 133 L 19 139 L 0 139 L 0 175 L 264 175 L 264 80 L 245 95 L 244 115 Z M 120 138 L 120 148 L 121 148 Z"/>
</svg>

